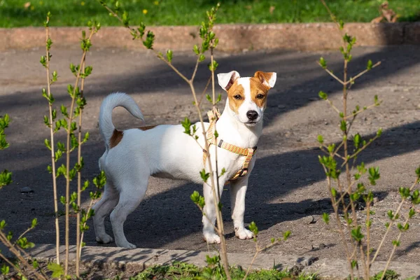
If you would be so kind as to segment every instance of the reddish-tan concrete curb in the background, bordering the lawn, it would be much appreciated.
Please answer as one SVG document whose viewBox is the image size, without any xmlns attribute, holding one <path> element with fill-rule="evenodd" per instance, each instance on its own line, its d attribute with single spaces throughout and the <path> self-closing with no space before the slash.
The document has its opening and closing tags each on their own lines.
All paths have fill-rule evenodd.
<svg viewBox="0 0 420 280">
<path fill-rule="evenodd" d="M 269 25 L 216 25 L 220 39 L 219 50 L 325 50 L 336 49 L 342 43 L 333 23 L 269 24 Z M 55 46 L 77 46 L 83 27 L 51 27 Z M 155 32 L 155 49 L 191 50 L 200 43 L 196 26 L 151 27 Z M 357 45 L 420 44 L 420 22 L 413 23 L 349 23 L 344 31 L 356 36 Z M 94 45 L 104 48 L 143 49 L 133 41 L 125 27 L 103 27 L 94 36 Z M 0 50 L 10 48 L 36 48 L 45 45 L 43 27 L 0 29 Z"/>
</svg>

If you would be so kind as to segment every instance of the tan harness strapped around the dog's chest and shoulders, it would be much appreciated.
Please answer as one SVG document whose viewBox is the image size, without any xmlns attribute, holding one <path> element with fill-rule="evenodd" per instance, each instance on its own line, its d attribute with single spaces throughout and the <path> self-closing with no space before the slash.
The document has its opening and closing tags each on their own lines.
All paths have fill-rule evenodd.
<svg viewBox="0 0 420 280">
<path fill-rule="evenodd" d="M 245 158 L 244 163 L 242 164 L 242 168 L 234 175 L 229 181 L 234 181 L 238 179 L 239 177 L 243 177 L 246 174 L 248 174 L 248 166 L 249 163 L 252 160 L 252 156 L 257 150 L 257 147 L 254 148 L 241 148 L 229 143 L 226 143 L 223 140 L 220 140 L 218 144 L 216 144 L 216 138 L 214 137 L 214 127 L 216 125 L 216 122 L 221 117 L 221 113 L 216 108 L 215 112 L 213 110 L 210 110 L 207 112 L 207 116 L 209 116 L 209 129 L 207 130 L 207 141 L 209 141 L 210 145 L 217 145 L 219 148 L 223 148 L 225 150 L 228 150 L 232 153 L 237 153 L 238 155 L 243 155 Z M 204 166 L 206 165 L 207 160 L 207 151 L 203 150 L 203 163 Z"/>
</svg>

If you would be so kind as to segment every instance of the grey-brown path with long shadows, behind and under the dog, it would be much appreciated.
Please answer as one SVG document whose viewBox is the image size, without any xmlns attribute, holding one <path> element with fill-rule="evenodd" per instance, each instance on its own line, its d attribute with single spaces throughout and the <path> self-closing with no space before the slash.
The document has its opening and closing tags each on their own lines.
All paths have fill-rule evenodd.
<svg viewBox="0 0 420 280">
<path fill-rule="evenodd" d="M 49 159 L 43 145 L 48 137 L 43 125 L 48 107 L 41 97 L 41 87 L 45 86 L 45 72 L 38 62 L 41 55 L 43 50 L 0 53 L 0 114 L 8 113 L 13 120 L 6 131 L 10 148 L 0 153 L 0 168 L 13 171 L 14 180 L 1 190 L 0 219 L 6 219 L 10 230 L 22 232 L 37 217 L 39 226 L 28 235 L 29 239 L 35 243 L 54 243 L 52 184 L 50 174 L 45 171 Z M 53 48 L 52 55 L 52 69 L 59 73 L 59 82 L 52 87 L 58 106 L 69 100 L 66 84 L 73 83 L 73 78 L 68 66 L 79 61 L 80 51 Z M 316 135 L 322 133 L 327 141 L 339 141 L 339 130 L 335 113 L 318 100 L 318 91 L 330 93 L 334 102 L 341 99 L 339 84 L 316 64 L 320 55 L 338 75 L 342 69 L 339 52 L 248 52 L 218 54 L 216 58 L 221 65 L 218 72 L 235 69 L 242 76 L 251 76 L 257 70 L 277 72 L 264 135 L 258 146 L 258 161 L 250 179 L 245 216 L 246 223 L 257 223 L 262 244 L 286 230 L 292 232 L 289 241 L 269 253 L 344 258 L 334 228 L 321 221 L 323 212 L 332 210 L 317 160 L 321 151 L 316 148 Z M 368 166 L 379 166 L 381 171 L 381 179 L 372 188 L 378 200 L 372 209 L 375 245 L 385 229 L 386 211 L 398 204 L 398 187 L 411 185 L 414 169 L 420 164 L 420 48 L 357 48 L 353 57 L 351 75 L 362 70 L 367 59 L 382 61 L 381 66 L 353 85 L 350 97 L 351 108 L 370 104 L 375 94 L 384 100 L 379 108 L 363 113 L 353 130 L 372 136 L 379 127 L 384 129 L 383 137 L 361 158 Z M 175 54 L 174 64 L 183 73 L 191 73 L 194 59 Z M 97 117 L 100 102 L 109 92 L 132 94 L 144 112 L 145 125 L 177 124 L 185 116 L 197 120 L 188 87 L 151 53 L 94 49 L 87 63 L 93 66 L 85 91 L 88 105 L 84 125 L 91 134 L 84 149 L 87 179 L 98 173 L 97 160 L 104 151 Z M 197 87 L 204 87 L 208 75 L 203 64 L 197 75 Z M 120 109 L 116 110 L 114 123 L 119 128 L 143 125 Z M 64 188 L 60 186 L 59 193 L 63 195 Z M 22 194 L 22 187 L 34 192 Z M 207 250 L 202 241 L 201 214 L 189 198 L 193 190 L 201 187 L 183 181 L 151 179 L 146 199 L 125 223 L 127 239 L 142 248 Z M 235 238 L 228 190 L 223 194 L 223 204 L 229 251 L 253 252 L 253 241 Z M 407 209 L 408 204 L 404 207 Z M 72 218 L 73 227 L 75 222 Z M 109 221 L 106 230 L 111 232 Z M 87 245 L 97 245 L 93 229 L 87 232 L 85 241 Z M 419 262 L 419 247 L 417 217 L 403 235 L 395 259 Z"/>
</svg>

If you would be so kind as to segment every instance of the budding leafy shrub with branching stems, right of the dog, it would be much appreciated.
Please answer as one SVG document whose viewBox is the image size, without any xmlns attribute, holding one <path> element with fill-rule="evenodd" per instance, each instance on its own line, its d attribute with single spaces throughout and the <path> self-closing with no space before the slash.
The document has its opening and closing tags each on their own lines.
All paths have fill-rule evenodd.
<svg viewBox="0 0 420 280">
<path fill-rule="evenodd" d="M 373 64 L 371 60 L 367 61 L 366 69 L 356 76 L 348 76 L 348 65 L 351 62 L 352 55 L 351 50 L 353 45 L 356 43 L 356 38 L 350 36 L 349 34 L 344 33 L 344 22 L 342 20 L 337 20 L 335 15 L 333 15 L 326 5 L 324 0 L 321 0 L 325 8 L 330 13 L 332 20 L 336 23 L 337 29 L 342 34 L 343 45 L 339 49 L 342 52 L 344 58 L 344 74 L 343 79 L 335 76 L 330 69 L 328 69 L 327 61 L 321 57 L 318 61 L 318 64 L 342 84 L 343 87 L 343 97 L 342 97 L 342 109 L 339 109 L 332 100 L 328 98 L 328 94 L 325 92 L 319 92 L 319 97 L 332 107 L 332 109 L 337 113 L 339 118 L 339 130 L 342 133 L 342 141 L 339 144 L 325 144 L 324 138 L 322 135 L 318 135 L 318 142 L 320 144 L 321 151 L 325 153 L 323 156 L 318 156 L 319 162 L 321 163 L 325 176 L 327 178 L 327 187 L 330 193 L 330 200 L 332 203 L 332 209 L 334 210 L 335 222 L 337 223 L 337 229 L 339 236 L 342 239 L 344 245 L 344 252 L 346 254 L 347 262 L 349 265 L 349 271 L 351 272 L 350 278 L 354 279 L 354 270 L 358 269 L 359 265 L 362 265 L 365 274 L 363 275 L 364 279 L 370 279 L 370 266 L 372 262 L 377 258 L 379 251 L 381 250 L 386 235 L 393 223 L 398 223 L 400 218 L 400 209 L 402 203 L 410 199 L 412 202 L 412 208 L 407 213 L 405 221 L 403 223 L 398 223 L 397 228 L 400 231 L 397 239 L 392 241 L 393 250 L 388 256 L 388 262 L 384 267 L 384 272 L 381 274 L 380 279 L 384 279 L 386 276 L 386 271 L 388 265 L 391 262 L 395 249 L 400 245 L 400 237 L 403 232 L 409 229 L 409 219 L 414 216 L 414 205 L 419 204 L 419 190 L 414 190 L 416 183 L 419 183 L 420 168 L 416 170 L 417 179 L 410 188 L 400 188 L 401 202 L 398 206 L 398 209 L 393 212 L 392 210 L 388 211 L 388 217 L 390 219 L 389 223 L 386 223 L 386 233 L 381 239 L 381 243 L 374 255 L 372 256 L 373 249 L 371 246 L 371 228 L 372 228 L 372 219 L 371 215 L 371 206 L 373 202 L 373 193 L 370 190 L 367 190 L 365 183 L 361 179 L 366 178 L 370 182 L 370 185 L 374 186 L 377 183 L 377 180 L 380 179 L 379 167 L 365 167 L 364 162 L 357 164 L 358 155 L 367 148 L 374 140 L 381 137 L 382 130 L 379 128 L 377 133 L 371 139 L 363 139 L 363 137 L 356 133 L 351 134 L 351 127 L 353 126 L 354 120 L 356 117 L 363 113 L 367 109 L 374 108 L 381 104 L 378 97 L 375 95 L 373 98 L 373 103 L 369 106 L 356 106 L 355 109 L 349 112 L 347 106 L 347 99 L 351 85 L 355 83 L 355 80 L 367 71 L 371 71 L 375 67 L 379 66 L 381 62 Z M 351 145 L 352 144 L 352 145 Z M 351 147 L 352 146 L 352 147 Z M 344 179 L 343 179 L 344 177 Z M 358 200 L 364 200 L 366 207 L 366 218 L 365 221 L 360 221 L 356 215 L 356 202 Z M 344 226 L 342 222 L 344 220 Z M 330 216 L 328 214 L 323 214 L 323 221 L 325 223 L 330 222 Z M 346 236 L 348 235 L 348 236 Z M 379 278 L 375 278 L 379 279 Z"/>
</svg>

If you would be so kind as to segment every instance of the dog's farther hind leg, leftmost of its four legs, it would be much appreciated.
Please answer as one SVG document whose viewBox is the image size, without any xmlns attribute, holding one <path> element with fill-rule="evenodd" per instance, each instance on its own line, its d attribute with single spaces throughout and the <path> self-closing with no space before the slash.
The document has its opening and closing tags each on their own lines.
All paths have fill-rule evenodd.
<svg viewBox="0 0 420 280">
<path fill-rule="evenodd" d="M 118 190 L 110 181 L 106 182 L 105 191 L 101 200 L 94 204 L 93 226 L 96 239 L 101 243 L 112 242 L 112 237 L 106 234 L 104 220 L 118 204 Z"/>
</svg>

